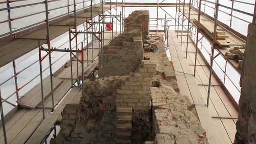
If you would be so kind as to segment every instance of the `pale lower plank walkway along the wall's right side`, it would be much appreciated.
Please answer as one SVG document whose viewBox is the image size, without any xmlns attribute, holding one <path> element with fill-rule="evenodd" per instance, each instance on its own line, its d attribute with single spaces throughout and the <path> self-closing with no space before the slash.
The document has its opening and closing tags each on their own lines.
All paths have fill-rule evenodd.
<svg viewBox="0 0 256 144">
<path fill-rule="evenodd" d="M 186 37 L 183 37 L 186 40 Z M 191 40 L 189 39 L 191 42 Z M 197 56 L 196 78 L 194 71 L 195 45 L 189 43 L 188 57 L 186 55 L 186 43 L 180 44 L 180 36 L 177 38 L 175 31 L 169 31 L 169 51 L 174 65 L 180 93 L 187 95 L 195 104 L 199 120 L 209 144 L 232 144 L 236 133 L 235 123 L 237 120 L 212 117 L 238 117 L 238 110 L 233 106 L 221 86 L 212 86 L 209 109 L 206 107 L 207 91 L 210 69 L 203 58 Z M 203 85 L 202 85 L 203 84 Z M 217 79 L 212 77 L 212 84 L 219 85 Z"/>
</svg>

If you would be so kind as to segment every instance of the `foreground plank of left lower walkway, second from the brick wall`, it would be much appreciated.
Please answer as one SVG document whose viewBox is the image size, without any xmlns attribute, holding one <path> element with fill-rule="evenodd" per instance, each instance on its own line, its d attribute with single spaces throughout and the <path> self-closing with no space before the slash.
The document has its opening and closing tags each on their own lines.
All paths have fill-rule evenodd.
<svg viewBox="0 0 256 144">
<path fill-rule="evenodd" d="M 51 109 L 45 109 L 46 115 L 49 114 Z M 10 144 L 24 144 L 32 133 L 37 129 L 43 121 L 42 110 L 40 110 L 29 123 L 23 127 L 19 134 L 10 142 Z"/>
</svg>

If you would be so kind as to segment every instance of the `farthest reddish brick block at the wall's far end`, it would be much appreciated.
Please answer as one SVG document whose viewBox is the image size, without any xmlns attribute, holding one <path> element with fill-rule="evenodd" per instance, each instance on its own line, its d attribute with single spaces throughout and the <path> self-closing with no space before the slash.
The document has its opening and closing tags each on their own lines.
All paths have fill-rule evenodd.
<svg viewBox="0 0 256 144">
<path fill-rule="evenodd" d="M 135 10 L 123 20 L 124 31 L 131 31 L 139 29 L 142 31 L 142 38 L 146 39 L 149 35 L 149 11 Z"/>
</svg>

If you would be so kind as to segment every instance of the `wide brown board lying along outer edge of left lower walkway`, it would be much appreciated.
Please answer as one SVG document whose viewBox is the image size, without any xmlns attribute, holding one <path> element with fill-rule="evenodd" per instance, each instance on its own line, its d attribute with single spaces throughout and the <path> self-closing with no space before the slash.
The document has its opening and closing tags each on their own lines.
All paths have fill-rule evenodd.
<svg viewBox="0 0 256 144">
<path fill-rule="evenodd" d="M 54 78 L 53 79 L 53 89 L 55 90 L 63 80 Z M 48 83 L 44 88 L 44 99 L 47 99 L 51 95 L 51 88 L 50 83 Z M 26 102 L 23 102 L 23 99 L 18 99 L 17 102 L 20 106 L 26 107 L 26 108 L 36 108 L 41 103 L 41 91 L 37 94 L 33 95 L 31 99 L 27 100 Z"/>
</svg>

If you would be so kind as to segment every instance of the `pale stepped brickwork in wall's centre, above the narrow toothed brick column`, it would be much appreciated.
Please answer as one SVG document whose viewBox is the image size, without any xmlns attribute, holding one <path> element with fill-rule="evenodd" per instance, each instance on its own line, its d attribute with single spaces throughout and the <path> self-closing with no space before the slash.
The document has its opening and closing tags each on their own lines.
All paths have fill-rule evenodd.
<svg viewBox="0 0 256 144">
<path fill-rule="evenodd" d="M 152 76 L 155 74 L 155 63 L 142 60 L 142 64 L 135 72 L 123 81 L 121 89 L 117 90 L 117 107 L 150 109 L 150 87 Z"/>
</svg>

